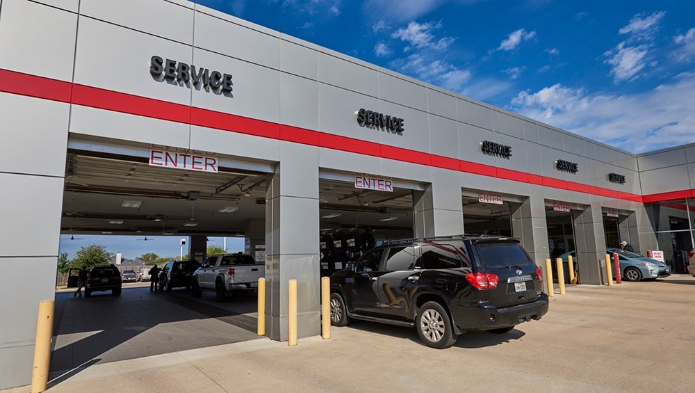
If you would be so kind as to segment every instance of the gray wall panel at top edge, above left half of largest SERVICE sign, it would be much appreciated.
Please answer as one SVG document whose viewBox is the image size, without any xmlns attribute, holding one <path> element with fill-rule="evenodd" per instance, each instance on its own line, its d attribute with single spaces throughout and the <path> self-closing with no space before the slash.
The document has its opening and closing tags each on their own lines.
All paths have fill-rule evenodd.
<svg viewBox="0 0 695 393">
<path fill-rule="evenodd" d="M 167 1 L 81 0 L 80 14 L 193 45 L 193 10 Z"/>
</svg>

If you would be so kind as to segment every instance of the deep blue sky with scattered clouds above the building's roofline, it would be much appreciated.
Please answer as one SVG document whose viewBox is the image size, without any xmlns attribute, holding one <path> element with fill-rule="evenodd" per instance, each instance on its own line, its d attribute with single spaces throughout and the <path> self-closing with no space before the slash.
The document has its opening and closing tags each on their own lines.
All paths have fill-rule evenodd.
<svg viewBox="0 0 695 393">
<path fill-rule="evenodd" d="M 695 2 L 197 0 L 628 152 L 695 142 Z"/>
</svg>

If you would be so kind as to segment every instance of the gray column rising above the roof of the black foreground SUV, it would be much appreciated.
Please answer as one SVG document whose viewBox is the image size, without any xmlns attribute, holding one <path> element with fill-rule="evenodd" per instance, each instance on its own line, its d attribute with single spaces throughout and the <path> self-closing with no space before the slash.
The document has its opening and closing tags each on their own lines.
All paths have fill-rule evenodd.
<svg viewBox="0 0 695 393">
<path fill-rule="evenodd" d="M 464 233 L 460 184 L 457 173 L 432 168 L 432 184 L 413 192 L 416 237 Z"/>
</svg>

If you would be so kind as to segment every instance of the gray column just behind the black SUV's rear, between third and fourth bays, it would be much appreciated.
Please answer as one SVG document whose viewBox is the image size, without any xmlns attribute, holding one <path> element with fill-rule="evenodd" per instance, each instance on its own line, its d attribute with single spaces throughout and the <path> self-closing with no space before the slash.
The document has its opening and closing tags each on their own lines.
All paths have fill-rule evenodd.
<svg viewBox="0 0 695 393">
<path fill-rule="evenodd" d="M 546 204 L 541 191 L 532 188 L 530 197 L 512 211 L 512 236 L 521 239 L 521 245 L 545 273 L 550 250 Z"/>
</svg>

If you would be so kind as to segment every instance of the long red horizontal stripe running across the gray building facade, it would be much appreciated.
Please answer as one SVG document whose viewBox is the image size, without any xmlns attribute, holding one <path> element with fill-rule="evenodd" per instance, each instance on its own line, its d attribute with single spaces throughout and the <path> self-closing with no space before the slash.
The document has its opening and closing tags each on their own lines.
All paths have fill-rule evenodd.
<svg viewBox="0 0 695 393">
<path fill-rule="evenodd" d="M 523 173 L 505 168 L 496 168 L 482 163 L 416 152 L 402 147 L 361 141 L 359 139 L 288 125 L 279 125 L 274 122 L 245 118 L 229 113 L 211 111 L 209 109 L 196 108 L 184 104 L 174 104 L 159 99 L 83 86 L 10 70 L 0 69 L 0 92 L 49 99 L 57 102 L 70 102 L 76 105 L 90 106 L 107 111 L 129 113 L 131 115 L 140 115 L 147 118 L 156 118 L 220 129 L 223 131 L 232 131 L 240 134 L 261 136 L 263 138 L 302 143 L 304 145 L 341 150 L 343 152 L 434 166 L 437 168 L 457 170 L 459 172 L 473 173 L 475 175 L 497 177 L 499 179 L 513 180 L 515 182 L 548 186 L 556 189 L 566 189 L 580 193 L 591 193 L 634 202 L 661 202 L 664 200 L 695 197 L 695 189 L 644 196 L 603 189 L 587 184 L 567 182 L 553 177 Z"/>
</svg>

